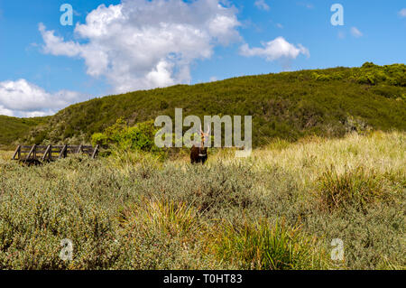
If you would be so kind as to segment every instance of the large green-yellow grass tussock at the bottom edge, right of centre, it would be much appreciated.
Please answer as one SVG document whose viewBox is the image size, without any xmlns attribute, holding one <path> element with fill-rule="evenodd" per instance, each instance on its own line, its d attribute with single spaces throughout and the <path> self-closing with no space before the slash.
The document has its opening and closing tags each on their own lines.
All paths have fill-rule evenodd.
<svg viewBox="0 0 406 288">
<path fill-rule="evenodd" d="M 239 269 L 286 270 L 317 269 L 325 265 L 322 253 L 312 248 L 315 239 L 305 237 L 300 228 L 265 220 L 227 226 L 217 242 L 222 261 L 235 263 Z"/>
</svg>

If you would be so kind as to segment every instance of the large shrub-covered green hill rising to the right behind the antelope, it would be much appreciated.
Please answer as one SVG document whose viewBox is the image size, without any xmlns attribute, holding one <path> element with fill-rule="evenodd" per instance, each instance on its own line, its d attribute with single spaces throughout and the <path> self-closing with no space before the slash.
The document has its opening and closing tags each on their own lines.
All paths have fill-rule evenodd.
<svg viewBox="0 0 406 288">
<path fill-rule="evenodd" d="M 254 146 L 273 137 L 295 141 L 306 135 L 342 136 L 354 129 L 406 130 L 406 65 L 365 63 L 95 98 L 61 110 L 23 141 L 89 142 L 119 117 L 134 125 L 174 116 L 175 107 L 183 108 L 184 116 L 251 115 Z"/>
</svg>

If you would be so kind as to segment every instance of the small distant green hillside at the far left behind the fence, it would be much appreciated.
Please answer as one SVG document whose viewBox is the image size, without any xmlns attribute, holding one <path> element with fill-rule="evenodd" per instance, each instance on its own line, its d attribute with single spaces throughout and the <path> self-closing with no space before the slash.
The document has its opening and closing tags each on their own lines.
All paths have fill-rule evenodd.
<svg viewBox="0 0 406 288">
<path fill-rule="evenodd" d="M 47 119 L 0 116 L 0 149 L 11 149 L 15 141 L 27 135 L 32 127 L 44 125 Z"/>
</svg>

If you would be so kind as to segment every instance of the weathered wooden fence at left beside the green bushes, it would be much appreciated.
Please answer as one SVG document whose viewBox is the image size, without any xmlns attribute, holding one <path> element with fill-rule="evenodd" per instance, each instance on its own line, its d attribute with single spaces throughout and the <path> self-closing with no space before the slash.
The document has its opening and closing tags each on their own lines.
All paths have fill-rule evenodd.
<svg viewBox="0 0 406 288">
<path fill-rule="evenodd" d="M 87 145 L 19 145 L 12 159 L 24 163 L 43 163 L 66 158 L 69 153 L 84 153 L 95 159 L 98 151 L 98 145 L 95 148 Z"/>
</svg>

